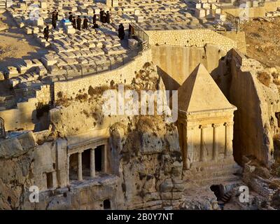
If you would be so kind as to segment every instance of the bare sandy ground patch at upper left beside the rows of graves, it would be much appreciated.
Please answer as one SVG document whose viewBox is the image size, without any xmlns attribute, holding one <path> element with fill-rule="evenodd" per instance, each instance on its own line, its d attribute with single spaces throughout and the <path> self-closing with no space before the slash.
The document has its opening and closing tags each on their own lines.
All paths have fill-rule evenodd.
<svg viewBox="0 0 280 224">
<path fill-rule="evenodd" d="M 1 25 L 2 23 L 2 25 Z M 0 26 L 8 25 L 6 31 L 0 31 L 0 70 L 6 66 L 22 64 L 23 59 L 40 58 L 48 50 L 41 47 L 32 35 L 26 35 L 18 28 L 8 13 L 0 15 Z"/>
</svg>

